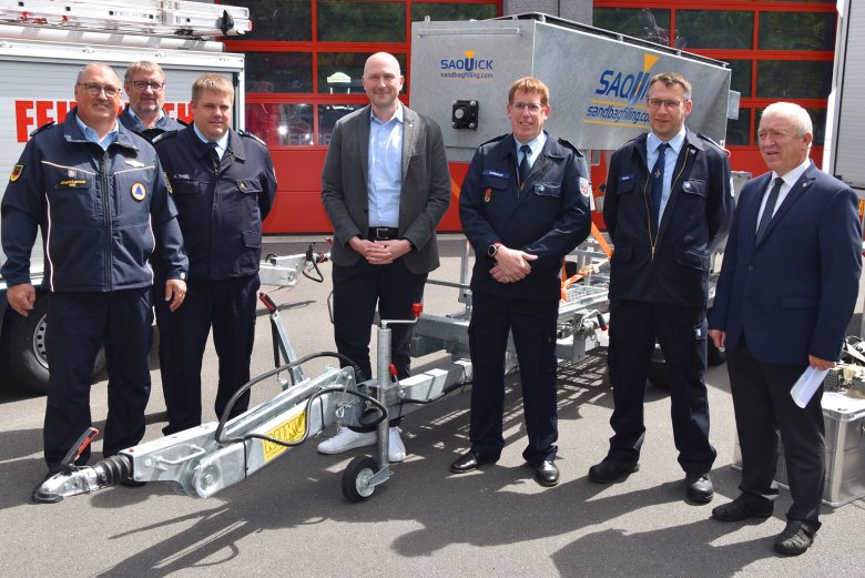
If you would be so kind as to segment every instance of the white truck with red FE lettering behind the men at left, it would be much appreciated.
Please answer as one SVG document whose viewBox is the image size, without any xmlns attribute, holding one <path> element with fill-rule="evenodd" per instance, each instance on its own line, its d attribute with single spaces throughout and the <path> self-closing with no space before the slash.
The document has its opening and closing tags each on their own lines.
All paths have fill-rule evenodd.
<svg viewBox="0 0 865 578">
<path fill-rule="evenodd" d="M 165 71 L 165 110 L 191 122 L 190 87 L 204 72 L 228 78 L 235 88 L 234 122 L 243 128 L 244 55 L 225 52 L 207 40 L 241 34 L 252 28 L 246 8 L 179 0 L 0 0 L 0 174 L 11 174 L 30 134 L 48 122 L 62 122 L 74 107 L 79 70 L 91 62 L 110 64 L 122 79 L 138 60 L 156 62 Z M 4 191 L 6 187 L 3 187 Z M 0 197 L 2 193 L 0 193 Z M 0 264 L 6 256 L 0 251 Z M 45 348 L 47 300 L 42 280 L 42 247 L 31 257 L 38 298 L 22 317 L 7 307 L 0 276 L 0 363 L 2 387 L 44 394 L 48 387 Z M 100 356 L 94 367 L 104 366 Z"/>
</svg>

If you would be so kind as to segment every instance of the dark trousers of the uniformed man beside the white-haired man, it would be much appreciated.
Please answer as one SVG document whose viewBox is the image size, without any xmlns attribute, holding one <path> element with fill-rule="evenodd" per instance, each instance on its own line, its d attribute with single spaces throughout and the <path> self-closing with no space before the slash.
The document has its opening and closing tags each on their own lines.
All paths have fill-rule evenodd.
<svg viewBox="0 0 865 578">
<path fill-rule="evenodd" d="M 702 307 L 614 301 L 610 303 L 608 364 L 615 407 L 609 456 L 637 462 L 645 437 L 643 402 L 655 336 L 670 377 L 670 414 L 679 464 L 689 474 L 712 469 L 705 387 L 708 323 Z"/>
</svg>

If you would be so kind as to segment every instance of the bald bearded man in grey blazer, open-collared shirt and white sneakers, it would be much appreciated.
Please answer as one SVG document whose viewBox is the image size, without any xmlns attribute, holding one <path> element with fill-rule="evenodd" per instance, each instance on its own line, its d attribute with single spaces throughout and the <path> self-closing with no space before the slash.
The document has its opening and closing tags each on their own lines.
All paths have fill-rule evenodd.
<svg viewBox="0 0 865 578">
<path fill-rule="evenodd" d="M 427 274 L 438 267 L 436 226 L 450 203 L 441 129 L 399 102 L 405 79 L 391 54 L 364 67 L 370 104 L 336 123 L 322 171 L 322 202 L 334 226 L 334 337 L 337 351 L 373 376 L 369 337 L 376 303 L 383 320 L 411 317 Z M 391 327 L 397 377 L 409 375 L 411 325 Z M 390 462 L 405 458 L 397 420 Z M 342 428 L 318 452 L 373 445 L 373 430 Z"/>
</svg>

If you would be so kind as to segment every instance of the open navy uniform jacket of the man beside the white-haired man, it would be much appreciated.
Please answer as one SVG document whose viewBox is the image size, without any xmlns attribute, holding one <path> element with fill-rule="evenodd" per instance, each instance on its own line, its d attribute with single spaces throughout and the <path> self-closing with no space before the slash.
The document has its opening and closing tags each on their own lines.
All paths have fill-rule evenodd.
<svg viewBox="0 0 865 578">
<path fill-rule="evenodd" d="M 712 251 L 724 240 L 735 206 L 730 163 L 714 142 L 688 130 L 661 227 L 652 239 L 648 136 L 615 151 L 607 174 L 603 220 L 615 245 L 610 300 L 705 307 Z"/>
</svg>

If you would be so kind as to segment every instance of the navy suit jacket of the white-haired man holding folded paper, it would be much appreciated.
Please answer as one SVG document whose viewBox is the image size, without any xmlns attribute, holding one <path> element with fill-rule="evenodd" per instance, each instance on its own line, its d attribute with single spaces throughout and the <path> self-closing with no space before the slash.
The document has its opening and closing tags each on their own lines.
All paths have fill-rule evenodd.
<svg viewBox="0 0 865 578">
<path fill-rule="evenodd" d="M 808 355 L 834 361 L 862 272 L 856 194 L 812 163 L 755 246 L 771 178 L 766 173 L 742 190 L 709 327 L 726 332 L 729 349 L 746 334 L 761 362 L 804 365 Z"/>
</svg>

